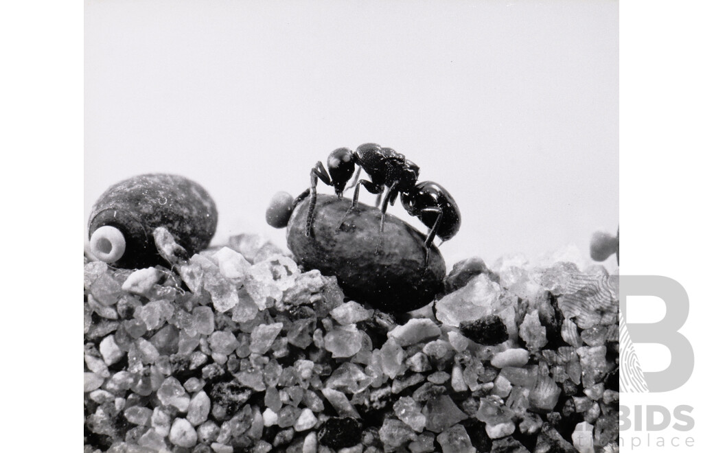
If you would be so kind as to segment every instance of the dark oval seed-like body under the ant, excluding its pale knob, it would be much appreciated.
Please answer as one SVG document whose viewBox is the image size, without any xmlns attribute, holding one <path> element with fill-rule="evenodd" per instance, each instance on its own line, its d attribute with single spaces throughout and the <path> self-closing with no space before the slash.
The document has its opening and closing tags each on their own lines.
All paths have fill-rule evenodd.
<svg viewBox="0 0 703 453">
<path fill-rule="evenodd" d="M 309 202 L 299 203 L 288 221 L 288 248 L 304 268 L 335 275 L 346 296 L 382 310 L 407 312 L 434 300 L 446 265 L 432 244 L 425 268 L 425 235 L 386 214 L 381 237 L 380 209 L 362 203 L 337 230 L 352 200 L 318 195 L 307 237 Z"/>
</svg>

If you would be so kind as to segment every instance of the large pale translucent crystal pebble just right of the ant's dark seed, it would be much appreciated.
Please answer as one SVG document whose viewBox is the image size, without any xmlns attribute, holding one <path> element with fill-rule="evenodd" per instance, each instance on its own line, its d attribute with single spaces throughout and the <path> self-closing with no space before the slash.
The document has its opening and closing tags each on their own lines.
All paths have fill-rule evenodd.
<svg viewBox="0 0 703 453">
<path fill-rule="evenodd" d="M 489 315 L 499 305 L 501 285 L 485 274 L 472 278 L 469 283 L 435 303 L 437 320 L 459 327 L 462 321 L 474 321 Z"/>
</svg>

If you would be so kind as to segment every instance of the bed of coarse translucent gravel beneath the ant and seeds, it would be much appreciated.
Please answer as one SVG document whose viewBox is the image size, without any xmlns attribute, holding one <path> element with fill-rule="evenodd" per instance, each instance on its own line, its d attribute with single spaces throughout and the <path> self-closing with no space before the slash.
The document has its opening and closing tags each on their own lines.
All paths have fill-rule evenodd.
<svg viewBox="0 0 703 453">
<path fill-rule="evenodd" d="M 457 263 L 385 313 L 254 235 L 84 263 L 85 452 L 617 452 L 617 275 Z"/>
</svg>

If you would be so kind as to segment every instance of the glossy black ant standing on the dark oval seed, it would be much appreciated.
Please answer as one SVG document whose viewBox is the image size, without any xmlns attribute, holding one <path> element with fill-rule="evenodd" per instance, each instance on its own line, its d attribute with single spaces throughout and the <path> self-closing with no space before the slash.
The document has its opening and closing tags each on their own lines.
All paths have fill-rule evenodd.
<svg viewBox="0 0 703 453">
<path fill-rule="evenodd" d="M 305 235 L 309 236 L 312 228 L 312 221 L 317 202 L 317 183 L 321 180 L 326 185 L 335 188 L 335 194 L 340 199 L 344 193 L 344 187 L 352 178 L 355 166 L 359 169 L 352 185 L 354 186 L 354 197 L 352 206 L 342 217 L 340 227 L 344 223 L 344 218 L 356 209 L 359 204 L 359 189 L 363 185 L 368 192 L 379 196 L 376 204 L 378 206 L 380 197 L 385 188 L 388 188 L 381 204 L 381 222 L 379 226 L 380 235 L 383 233 L 383 224 L 388 204 L 395 204 L 398 195 L 401 195 L 401 203 L 408 211 L 408 214 L 420 218 L 430 232 L 425 239 L 426 255 L 435 236 L 442 239 L 442 242 L 451 239 L 459 230 L 461 225 L 461 215 L 454 199 L 441 185 L 432 181 L 417 183 L 420 167 L 406 157 L 389 147 L 381 147 L 375 143 L 365 143 L 352 152 L 349 148 L 337 148 L 327 158 L 328 171 L 325 170 L 322 162 L 317 162 L 310 171 L 310 188 L 305 190 L 296 199 L 296 204 L 310 195 L 310 204 L 305 222 Z M 359 179 L 359 173 L 363 169 L 370 180 Z M 351 188 L 350 186 L 349 188 Z M 340 227 L 337 227 L 339 229 Z M 378 251 L 378 248 L 377 248 Z M 427 258 L 427 256 L 425 257 Z"/>
</svg>

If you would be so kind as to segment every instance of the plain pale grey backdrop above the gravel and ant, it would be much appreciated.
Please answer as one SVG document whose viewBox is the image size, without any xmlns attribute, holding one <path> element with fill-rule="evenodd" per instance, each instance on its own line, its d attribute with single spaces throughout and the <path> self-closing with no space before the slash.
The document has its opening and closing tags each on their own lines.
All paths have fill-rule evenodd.
<svg viewBox="0 0 703 453">
<path fill-rule="evenodd" d="M 335 147 L 373 141 L 460 204 L 450 265 L 570 243 L 587 256 L 592 232 L 618 224 L 617 9 L 86 1 L 84 216 L 118 180 L 181 173 L 217 202 L 216 242 L 284 244 L 264 221 L 271 195 L 297 195 Z"/>
</svg>

